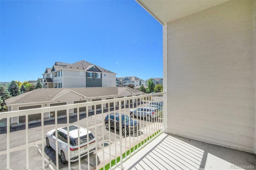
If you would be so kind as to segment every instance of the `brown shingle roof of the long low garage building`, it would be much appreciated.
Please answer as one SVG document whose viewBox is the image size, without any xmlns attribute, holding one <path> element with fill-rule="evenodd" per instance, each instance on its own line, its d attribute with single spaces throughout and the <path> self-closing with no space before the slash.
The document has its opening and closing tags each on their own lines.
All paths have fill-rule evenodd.
<svg viewBox="0 0 256 170">
<path fill-rule="evenodd" d="M 130 87 L 80 87 L 80 88 L 45 88 L 36 89 L 23 93 L 21 95 L 6 99 L 7 105 L 21 104 L 21 103 L 36 103 L 36 102 L 48 102 L 52 101 L 61 95 L 74 91 L 85 97 L 100 97 L 118 95 L 124 89 L 129 89 L 132 93 L 142 93 L 136 89 Z"/>
</svg>

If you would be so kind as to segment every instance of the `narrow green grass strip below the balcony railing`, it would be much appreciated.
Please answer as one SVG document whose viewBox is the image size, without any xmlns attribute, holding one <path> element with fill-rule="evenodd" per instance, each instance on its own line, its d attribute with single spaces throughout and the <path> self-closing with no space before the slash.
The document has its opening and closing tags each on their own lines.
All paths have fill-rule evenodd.
<svg viewBox="0 0 256 170">
<path fill-rule="evenodd" d="M 125 158 L 126 155 L 129 155 L 130 153 L 134 152 L 134 150 L 137 150 L 138 148 L 140 148 L 140 146 L 143 146 L 144 143 L 146 143 L 147 140 L 152 139 L 156 134 L 158 134 L 160 132 L 160 130 L 158 130 L 157 132 L 155 132 L 154 134 L 152 134 L 151 136 L 148 136 L 147 139 L 142 140 L 140 143 L 136 144 L 134 147 L 130 148 L 129 150 L 127 150 L 126 152 L 124 152 L 122 154 L 123 159 Z M 116 163 L 118 164 L 118 162 L 120 162 L 120 156 L 118 156 L 116 159 L 111 160 L 111 167 L 113 167 L 114 165 L 116 165 Z M 110 163 L 105 165 L 105 170 L 109 170 L 110 169 Z M 100 170 L 103 170 L 103 167 L 100 168 Z"/>
</svg>

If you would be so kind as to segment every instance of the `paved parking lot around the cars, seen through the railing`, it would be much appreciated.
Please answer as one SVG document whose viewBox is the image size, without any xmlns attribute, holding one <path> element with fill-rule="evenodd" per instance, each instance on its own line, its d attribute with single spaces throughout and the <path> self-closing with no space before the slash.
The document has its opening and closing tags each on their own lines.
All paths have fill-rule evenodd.
<svg viewBox="0 0 256 170">
<path fill-rule="evenodd" d="M 129 110 L 132 108 L 121 109 L 121 111 L 116 111 L 125 113 L 129 115 Z M 112 113 L 113 111 L 110 111 Z M 86 115 L 80 115 L 79 124 L 82 127 L 88 128 L 97 139 L 97 153 L 91 153 L 90 158 L 90 169 L 94 169 L 96 167 L 96 162 L 98 166 L 101 164 L 106 164 L 108 162 L 102 162 L 102 149 L 104 147 L 107 150 L 108 146 L 116 144 L 120 140 L 119 131 L 114 128 L 106 129 L 104 125 L 104 118 L 108 114 L 108 112 L 100 113 L 100 114 L 90 114 L 88 116 L 88 120 L 85 119 Z M 135 132 L 134 134 L 130 134 L 126 136 L 126 140 L 128 138 L 132 141 L 135 141 L 135 144 L 138 143 L 138 140 L 142 140 L 144 135 L 144 127 L 153 126 L 153 124 L 157 124 L 158 122 L 147 122 L 146 120 L 140 120 L 140 118 L 134 118 L 140 123 L 140 130 Z M 77 115 L 73 115 L 70 117 L 70 125 L 77 124 Z M 66 126 L 66 118 L 58 119 L 58 128 Z M 55 122 L 53 121 L 45 121 L 44 122 L 44 132 L 45 136 L 46 132 L 55 128 Z M 150 134 L 150 132 L 145 132 L 145 134 Z M 42 154 L 45 155 L 45 167 L 47 169 L 56 169 L 56 153 L 52 148 L 46 147 L 46 142 L 44 140 L 43 148 L 42 148 L 42 136 L 41 136 L 41 123 L 36 123 L 33 125 L 29 125 L 28 136 L 29 136 L 29 168 L 30 169 L 38 169 L 42 167 Z M 147 136 L 148 136 L 147 135 Z M 11 129 L 10 133 L 10 168 L 12 169 L 26 169 L 26 131 L 25 128 L 15 127 Z M 124 138 L 124 135 L 121 136 Z M 126 143 L 125 143 L 126 144 Z M 126 148 L 133 147 L 130 143 L 127 142 Z M 111 152 L 111 156 L 109 160 L 119 155 L 115 155 L 115 152 Z M 59 168 L 60 169 L 68 169 L 68 164 L 62 164 L 59 158 Z M 105 159 L 105 161 L 108 160 Z M 1 129 L 0 134 L 0 164 L 6 165 L 6 134 Z M 71 162 L 72 169 L 78 169 L 78 161 Z M 5 167 L 1 167 L 5 168 Z M 88 157 L 84 156 L 81 159 L 81 169 L 88 169 Z"/>
</svg>

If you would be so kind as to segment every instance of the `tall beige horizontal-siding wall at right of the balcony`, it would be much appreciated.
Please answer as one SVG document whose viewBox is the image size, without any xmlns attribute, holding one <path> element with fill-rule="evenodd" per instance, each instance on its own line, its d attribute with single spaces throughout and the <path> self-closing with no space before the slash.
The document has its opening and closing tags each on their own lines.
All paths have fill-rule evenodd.
<svg viewBox="0 0 256 170">
<path fill-rule="evenodd" d="M 229 1 L 167 23 L 168 132 L 254 150 L 253 5 Z"/>
</svg>

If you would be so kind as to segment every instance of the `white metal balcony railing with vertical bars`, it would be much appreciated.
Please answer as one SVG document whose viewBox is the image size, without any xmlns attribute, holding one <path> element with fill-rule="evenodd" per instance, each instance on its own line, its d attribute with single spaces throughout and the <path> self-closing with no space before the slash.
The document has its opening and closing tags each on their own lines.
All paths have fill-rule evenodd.
<svg viewBox="0 0 256 170">
<path fill-rule="evenodd" d="M 58 111 L 60 110 L 66 110 L 66 114 L 69 116 L 66 116 L 66 123 L 65 126 L 67 126 L 67 131 L 69 132 L 69 127 L 70 125 L 77 125 L 83 126 L 84 128 L 87 129 L 87 136 L 88 136 L 88 130 L 89 128 L 91 131 L 94 131 L 94 136 L 96 138 L 96 153 L 95 153 L 95 166 L 92 166 L 91 168 L 93 169 L 100 169 L 103 168 L 104 170 L 106 169 L 105 166 L 110 162 L 109 166 L 107 166 L 107 169 L 114 169 L 117 166 L 120 166 L 120 169 L 122 169 L 122 163 L 125 161 L 127 158 L 132 156 L 135 152 L 138 152 L 140 148 L 142 148 L 145 144 L 150 142 L 153 138 L 158 136 L 163 130 L 164 130 L 164 121 L 163 121 L 163 106 L 164 103 L 164 93 L 154 93 L 154 94 L 148 94 L 148 95 L 140 95 L 140 96 L 134 96 L 134 97 L 124 97 L 124 98 L 118 98 L 118 99 L 109 99 L 109 100 L 104 100 L 104 101 L 93 101 L 93 102 L 87 102 L 87 103 L 77 103 L 77 104 L 72 104 L 72 105 L 61 105 L 61 106 L 55 106 L 55 107 L 45 107 L 45 108 L 38 108 L 38 109 L 28 109 L 28 110 L 21 110 L 21 111 L 11 111 L 11 112 L 4 112 L 0 113 L 0 119 L 6 118 L 7 121 L 7 126 L 6 126 L 6 141 L 1 140 L 0 144 L 1 146 L 6 142 L 6 149 L 0 150 L 0 155 L 6 154 L 6 167 L 2 164 L 1 168 L 14 168 L 16 166 L 17 160 L 10 160 L 10 152 L 12 149 L 15 149 L 14 147 L 10 148 L 10 143 L 13 144 L 14 141 L 11 141 L 11 138 L 15 138 L 12 136 L 11 131 L 11 124 L 10 124 L 10 118 L 12 117 L 20 117 L 20 116 L 25 116 L 26 117 L 26 122 L 25 122 L 25 129 L 20 130 L 20 134 L 23 132 L 26 134 L 26 158 L 19 157 L 20 159 L 26 161 L 26 169 L 31 169 L 31 167 L 35 168 L 35 165 L 33 164 L 33 161 L 29 161 L 31 159 L 29 157 L 29 147 L 33 145 L 33 143 L 29 143 L 29 131 L 32 130 L 33 128 L 29 128 L 29 120 L 28 120 L 28 115 L 35 115 L 40 113 L 41 114 L 41 138 L 38 142 L 34 142 L 37 144 L 42 145 L 42 164 L 36 164 L 37 168 L 42 167 L 42 169 L 46 169 L 46 166 L 49 166 L 51 169 L 61 169 L 63 168 L 62 164 L 59 164 L 59 155 L 58 155 L 58 147 L 56 147 L 56 160 L 54 164 L 54 160 L 52 162 L 49 162 L 47 159 L 47 155 L 44 152 L 44 148 L 46 146 L 45 144 L 45 128 L 46 126 L 44 125 L 46 121 L 44 120 L 44 113 L 50 113 L 54 112 L 55 115 L 55 122 L 54 125 L 47 125 L 47 128 L 52 127 L 52 129 L 55 129 L 57 132 L 57 129 L 60 127 L 63 127 L 63 123 L 58 124 Z M 122 130 L 120 129 L 119 132 L 116 129 L 116 125 L 114 124 L 114 129 L 113 128 L 106 128 L 104 126 L 104 117 L 108 115 L 110 117 L 110 113 L 122 113 L 124 115 L 130 116 L 130 110 L 135 109 L 136 107 L 146 107 L 144 106 L 145 104 L 149 104 L 150 102 L 157 102 L 160 105 L 160 108 L 154 113 L 156 114 L 156 119 L 152 121 L 147 121 L 147 119 L 143 119 L 142 117 L 133 117 L 135 121 L 140 123 L 140 129 L 136 130 L 134 129 L 135 127 L 133 126 L 133 133 L 131 133 L 131 126 L 130 126 L 130 121 L 129 121 L 129 134 L 127 134 L 127 131 L 125 130 L 124 133 L 122 134 Z M 113 107 L 110 108 L 110 104 L 114 103 Z M 108 108 L 104 109 L 104 105 L 108 104 Z M 97 105 L 101 105 L 100 109 L 96 109 Z M 90 112 L 88 110 L 88 107 L 94 106 L 94 110 Z M 80 120 L 80 108 L 86 107 L 86 117 L 82 120 Z M 70 115 L 69 111 L 70 109 L 77 109 L 77 121 L 70 123 L 70 116 L 74 117 L 75 114 Z M 134 111 L 131 111 L 134 115 Z M 89 122 L 89 117 L 90 121 L 93 121 L 94 118 L 94 123 L 93 125 L 90 125 L 91 122 Z M 93 117 L 93 118 L 92 118 Z M 63 119 L 63 118 L 62 118 Z M 44 121 L 42 121 L 44 120 Z M 116 121 L 116 119 L 115 119 Z M 97 123 L 100 122 L 100 123 Z M 99 130 L 98 127 L 101 126 L 101 129 Z M 119 127 L 122 127 L 122 122 L 119 121 Z M 137 127 L 138 128 L 138 127 Z M 15 130 L 12 130 L 15 131 Z M 134 132 L 136 131 L 136 132 Z M 102 133 L 102 136 L 99 134 Z M 114 136 L 114 137 L 113 137 Z M 68 133 L 68 139 L 70 138 L 69 133 Z M 101 140 L 102 138 L 102 140 Z M 105 139 L 106 138 L 106 139 Z M 108 139 L 107 139 L 108 138 Z M 109 145 L 105 146 L 104 141 L 109 140 Z M 87 141 L 88 144 L 88 141 Z M 100 147 L 100 144 L 102 144 L 102 148 Z M 17 144 L 13 144 L 16 146 Z M 119 145 L 119 146 L 118 146 Z M 58 146 L 58 135 L 56 135 L 56 146 Z M 79 136 L 79 130 L 78 130 L 78 146 L 80 146 L 80 136 Z M 87 145 L 88 146 L 88 145 Z M 16 146 L 16 148 L 19 146 Z M 1 147 L 0 147 L 1 148 Z M 68 156 L 68 169 L 74 169 L 72 166 L 77 166 L 78 164 L 78 169 L 83 169 L 81 167 L 82 162 L 81 162 L 81 156 L 80 156 L 80 147 L 78 147 L 78 162 L 77 163 L 70 163 L 70 156 Z M 114 150 L 114 153 L 112 153 Z M 52 150 L 53 151 L 53 150 Z M 128 151 L 128 152 L 127 152 Z M 70 155 L 70 140 L 68 140 L 68 155 Z M 122 154 L 124 153 L 124 158 Z M 89 150 L 87 153 L 87 162 L 88 162 L 88 169 L 90 169 L 90 154 Z M 99 155 L 99 156 L 98 156 Z M 113 159 L 114 155 L 114 159 Z M 118 157 L 120 157 L 120 161 L 118 162 Z M 100 162 L 98 161 L 100 160 Z M 114 165 L 111 164 L 111 160 L 113 160 Z M 92 160 L 91 160 L 92 161 Z M 30 164 L 29 164 L 30 162 Z M 32 162 L 32 164 L 31 164 Z M 94 161 L 93 161 L 94 162 Z M 83 162 L 84 163 L 84 162 Z M 60 167 L 61 165 L 61 167 Z M 20 167 L 20 166 L 18 166 Z M 48 167 L 48 168 L 49 168 Z"/>
</svg>

